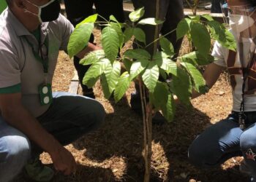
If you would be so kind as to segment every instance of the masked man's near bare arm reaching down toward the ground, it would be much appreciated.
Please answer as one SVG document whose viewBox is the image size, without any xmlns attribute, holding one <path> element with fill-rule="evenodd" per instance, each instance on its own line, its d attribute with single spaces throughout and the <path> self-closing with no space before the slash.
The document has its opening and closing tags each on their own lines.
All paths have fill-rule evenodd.
<svg viewBox="0 0 256 182">
<path fill-rule="evenodd" d="M 0 111 L 5 121 L 50 154 L 56 170 L 64 172 L 65 175 L 75 170 L 75 159 L 72 154 L 24 108 L 20 93 L 0 94 Z"/>
</svg>

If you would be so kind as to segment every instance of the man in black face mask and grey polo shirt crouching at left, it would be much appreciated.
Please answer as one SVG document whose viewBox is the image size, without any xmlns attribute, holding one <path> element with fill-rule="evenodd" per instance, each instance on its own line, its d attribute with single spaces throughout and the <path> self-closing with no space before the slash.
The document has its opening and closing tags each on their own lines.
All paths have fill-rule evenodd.
<svg viewBox="0 0 256 182">
<path fill-rule="evenodd" d="M 75 159 L 63 146 L 96 129 L 105 110 L 96 100 L 51 92 L 59 50 L 67 51 L 72 24 L 58 0 L 7 0 L 0 15 L 0 181 L 21 170 L 34 181 L 50 181 L 53 170 L 39 154 L 50 154 L 56 170 L 69 175 Z M 94 44 L 77 56 L 97 50 Z"/>
</svg>

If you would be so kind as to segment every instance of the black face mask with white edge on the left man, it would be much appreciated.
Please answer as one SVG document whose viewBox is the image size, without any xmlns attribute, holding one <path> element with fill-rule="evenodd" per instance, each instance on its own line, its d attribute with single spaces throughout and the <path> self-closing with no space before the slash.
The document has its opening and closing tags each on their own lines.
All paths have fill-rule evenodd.
<svg viewBox="0 0 256 182">
<path fill-rule="evenodd" d="M 30 4 L 33 4 L 31 3 L 31 1 L 28 2 Z M 36 4 L 33 5 L 38 8 L 38 14 L 34 14 L 27 9 L 26 12 L 36 15 L 40 23 L 56 20 L 59 17 L 59 13 L 61 12 L 61 7 L 58 0 L 50 0 L 47 4 L 44 4 L 42 6 L 37 6 Z"/>
</svg>

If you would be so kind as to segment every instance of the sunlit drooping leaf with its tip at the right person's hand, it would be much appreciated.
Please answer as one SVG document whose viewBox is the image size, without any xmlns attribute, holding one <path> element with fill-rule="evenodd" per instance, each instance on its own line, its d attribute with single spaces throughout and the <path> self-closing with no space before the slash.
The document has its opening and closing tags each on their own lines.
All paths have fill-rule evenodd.
<svg viewBox="0 0 256 182">
<path fill-rule="evenodd" d="M 190 74 L 195 90 L 200 93 L 206 93 L 206 81 L 203 79 L 200 71 L 198 71 L 197 68 L 190 63 L 181 63 L 181 65 L 184 66 L 184 68 L 186 68 L 187 72 Z"/>
</svg>

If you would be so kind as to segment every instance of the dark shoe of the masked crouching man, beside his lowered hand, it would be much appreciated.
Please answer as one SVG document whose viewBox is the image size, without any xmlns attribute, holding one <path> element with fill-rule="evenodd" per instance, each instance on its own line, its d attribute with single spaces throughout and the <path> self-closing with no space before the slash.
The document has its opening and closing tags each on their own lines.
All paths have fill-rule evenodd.
<svg viewBox="0 0 256 182">
<path fill-rule="evenodd" d="M 31 159 L 24 167 L 25 175 L 33 181 L 46 182 L 53 179 L 54 171 L 45 165 L 39 158 Z"/>
</svg>

